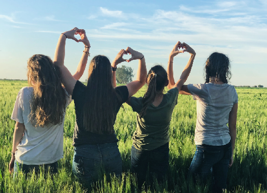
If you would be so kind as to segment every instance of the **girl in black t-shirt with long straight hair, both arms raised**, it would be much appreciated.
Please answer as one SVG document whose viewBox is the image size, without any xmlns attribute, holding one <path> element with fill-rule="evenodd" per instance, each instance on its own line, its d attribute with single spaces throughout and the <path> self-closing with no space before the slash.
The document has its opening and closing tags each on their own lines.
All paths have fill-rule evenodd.
<svg viewBox="0 0 267 193">
<path fill-rule="evenodd" d="M 74 37 L 76 33 L 81 35 L 81 40 Z M 75 104 L 73 172 L 86 187 L 90 187 L 104 173 L 107 177 L 110 173 L 121 175 L 122 160 L 113 125 L 121 105 L 145 84 L 146 62 L 142 53 L 129 47 L 121 50 L 112 63 L 106 56 L 97 55 L 90 62 L 87 85 L 84 85 L 73 78 L 64 66 L 66 38 L 80 42 L 88 40 L 85 32 L 78 28 L 61 34 L 55 51 L 55 63 L 60 68 L 63 84 L 72 94 Z M 88 50 L 85 52 L 89 54 L 90 44 L 86 47 Z M 126 61 L 122 56 L 128 53 L 131 54 L 128 62 L 139 60 L 137 80 L 114 88 L 112 82 L 117 65 Z"/>
</svg>

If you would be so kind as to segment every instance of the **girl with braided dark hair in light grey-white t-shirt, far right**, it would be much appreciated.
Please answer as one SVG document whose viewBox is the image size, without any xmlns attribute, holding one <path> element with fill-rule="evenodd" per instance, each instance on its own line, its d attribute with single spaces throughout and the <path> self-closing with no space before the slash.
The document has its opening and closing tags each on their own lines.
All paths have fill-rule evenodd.
<svg viewBox="0 0 267 193">
<path fill-rule="evenodd" d="M 172 63 L 168 65 L 169 88 L 172 88 Z M 189 172 L 205 180 L 212 168 L 213 192 L 222 192 L 226 189 L 228 168 L 233 164 L 238 96 L 234 86 L 228 84 L 231 72 L 226 55 L 212 53 L 206 61 L 205 72 L 204 84 L 183 85 L 179 92 L 191 94 L 196 100 L 196 151 Z"/>
</svg>

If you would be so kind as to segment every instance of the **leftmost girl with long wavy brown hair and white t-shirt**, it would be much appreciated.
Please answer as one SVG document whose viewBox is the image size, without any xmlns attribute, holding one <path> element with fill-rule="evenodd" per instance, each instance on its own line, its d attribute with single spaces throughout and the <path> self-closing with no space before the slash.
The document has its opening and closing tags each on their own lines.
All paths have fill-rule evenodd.
<svg viewBox="0 0 267 193">
<path fill-rule="evenodd" d="M 87 59 L 88 54 L 83 54 L 72 78 L 81 78 Z M 48 56 L 33 55 L 27 69 L 29 86 L 19 91 L 11 116 L 16 125 L 9 171 L 28 173 L 35 168 L 38 173 L 43 165 L 45 171 L 51 167 L 50 172 L 56 173 L 57 161 L 63 157 L 65 109 L 72 100 L 62 87 L 58 66 Z"/>
</svg>

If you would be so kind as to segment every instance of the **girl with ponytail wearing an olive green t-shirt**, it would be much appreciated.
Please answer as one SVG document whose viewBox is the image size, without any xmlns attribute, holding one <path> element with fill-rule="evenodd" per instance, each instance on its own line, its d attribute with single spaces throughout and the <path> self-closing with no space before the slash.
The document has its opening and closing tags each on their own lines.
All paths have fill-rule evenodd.
<svg viewBox="0 0 267 193">
<path fill-rule="evenodd" d="M 137 173 L 139 188 L 146 180 L 149 165 L 151 174 L 156 175 L 158 181 L 166 177 L 169 166 L 169 126 L 174 107 L 177 105 L 178 93 L 186 81 L 195 57 L 195 52 L 187 44 L 186 49 L 178 50 L 178 42 L 170 53 L 173 59 L 178 53 L 187 51 L 190 59 L 186 64 L 180 79 L 166 94 L 163 94 L 165 86 L 169 84 L 166 70 L 156 65 L 147 75 L 147 91 L 144 97 L 130 97 L 127 104 L 134 112 L 137 112 L 137 130 L 133 133 L 131 147 L 131 169 Z M 171 61 L 172 62 L 172 61 Z"/>
</svg>

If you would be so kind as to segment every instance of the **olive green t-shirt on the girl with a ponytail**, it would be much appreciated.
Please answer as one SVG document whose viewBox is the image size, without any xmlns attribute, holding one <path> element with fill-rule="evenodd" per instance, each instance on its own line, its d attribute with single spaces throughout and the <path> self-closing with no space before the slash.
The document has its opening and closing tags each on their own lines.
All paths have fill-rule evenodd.
<svg viewBox="0 0 267 193">
<path fill-rule="evenodd" d="M 174 107 L 177 105 L 178 89 L 172 88 L 163 96 L 158 107 L 150 104 L 146 115 L 140 118 L 143 97 L 131 97 L 132 111 L 137 112 L 137 130 L 133 133 L 133 146 L 139 150 L 153 150 L 169 142 L 169 126 Z"/>
</svg>

